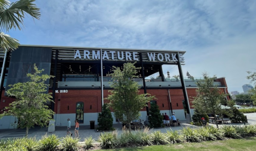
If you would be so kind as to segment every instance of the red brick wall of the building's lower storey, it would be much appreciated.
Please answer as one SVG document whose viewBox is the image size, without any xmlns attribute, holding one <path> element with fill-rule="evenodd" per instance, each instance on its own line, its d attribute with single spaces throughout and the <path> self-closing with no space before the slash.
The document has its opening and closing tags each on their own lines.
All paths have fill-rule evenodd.
<svg viewBox="0 0 256 151">
<path fill-rule="evenodd" d="M 195 88 L 187 89 L 188 99 L 190 101 L 190 108 L 193 109 L 191 101 L 192 97 L 196 96 Z M 184 100 L 184 95 L 182 89 L 170 89 L 170 98 L 172 110 L 182 110 L 184 109 L 182 100 Z M 221 89 L 224 92 L 224 88 Z M 49 92 L 52 92 L 51 90 Z M 60 91 L 59 91 L 60 92 Z M 140 94 L 144 93 L 144 90 L 140 90 Z M 168 97 L 168 89 L 150 89 L 147 93 L 155 96 L 157 105 L 159 105 L 160 110 L 170 110 L 170 103 Z M 110 94 L 108 90 L 104 90 L 104 98 Z M 6 100 L 6 102 L 3 102 Z M 4 96 L 2 93 L 2 98 L 0 102 L 0 110 L 3 110 L 4 106 L 11 103 L 14 98 Z M 84 113 L 99 113 L 101 112 L 101 90 L 68 90 L 68 93 L 55 93 L 55 104 L 54 112 L 56 114 L 69 114 L 75 113 L 76 103 L 84 103 Z M 108 103 L 108 100 L 104 100 L 104 103 Z M 150 108 L 150 103 L 148 103 Z M 111 110 L 112 111 L 112 110 Z M 141 111 L 146 111 L 144 107 Z"/>
</svg>

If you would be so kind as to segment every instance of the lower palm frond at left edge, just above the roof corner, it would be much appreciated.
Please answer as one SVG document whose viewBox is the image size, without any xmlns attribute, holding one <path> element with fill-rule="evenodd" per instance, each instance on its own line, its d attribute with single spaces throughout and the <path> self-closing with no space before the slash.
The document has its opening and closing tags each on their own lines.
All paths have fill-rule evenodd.
<svg viewBox="0 0 256 151">
<path fill-rule="evenodd" d="M 19 46 L 18 40 L 10 37 L 3 32 L 0 33 L 0 47 L 7 51 L 12 51 L 17 49 Z"/>
</svg>

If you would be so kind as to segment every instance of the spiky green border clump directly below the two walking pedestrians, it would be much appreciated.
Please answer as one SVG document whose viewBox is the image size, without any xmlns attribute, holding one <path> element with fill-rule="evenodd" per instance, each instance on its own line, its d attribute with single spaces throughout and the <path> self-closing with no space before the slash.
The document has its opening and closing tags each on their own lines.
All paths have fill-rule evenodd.
<svg viewBox="0 0 256 151">
<path fill-rule="evenodd" d="M 70 136 L 66 136 L 62 139 L 62 142 L 61 142 L 61 150 L 64 150 L 64 151 L 74 151 L 74 150 L 77 150 L 77 146 L 78 146 L 78 141 L 79 139 L 78 138 L 72 138 Z"/>
</svg>

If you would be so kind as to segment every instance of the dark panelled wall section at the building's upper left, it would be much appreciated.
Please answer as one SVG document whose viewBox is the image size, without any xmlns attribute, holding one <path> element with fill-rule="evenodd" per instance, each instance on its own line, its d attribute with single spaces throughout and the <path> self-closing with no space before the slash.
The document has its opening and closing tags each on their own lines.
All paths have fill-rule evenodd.
<svg viewBox="0 0 256 151">
<path fill-rule="evenodd" d="M 13 51 L 11 53 L 6 85 L 27 82 L 29 79 L 27 73 L 33 72 L 34 63 L 39 70 L 44 69 L 43 74 L 50 75 L 51 53 L 51 48 L 43 47 L 19 47 L 17 50 Z M 49 80 L 47 80 L 46 83 L 49 84 Z M 8 89 L 9 87 L 6 87 L 6 91 Z"/>
</svg>

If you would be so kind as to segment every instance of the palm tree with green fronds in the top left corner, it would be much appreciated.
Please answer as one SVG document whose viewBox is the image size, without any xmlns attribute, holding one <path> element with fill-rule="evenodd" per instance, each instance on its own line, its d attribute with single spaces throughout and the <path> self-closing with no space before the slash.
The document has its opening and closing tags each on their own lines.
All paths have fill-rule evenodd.
<svg viewBox="0 0 256 151">
<path fill-rule="evenodd" d="M 12 51 L 18 48 L 19 43 L 15 38 L 5 34 L 10 29 L 22 30 L 23 18 L 29 14 L 33 18 L 40 19 L 40 9 L 33 4 L 35 0 L 19 0 L 10 3 L 7 0 L 0 0 L 0 48 L 4 51 Z"/>
</svg>

